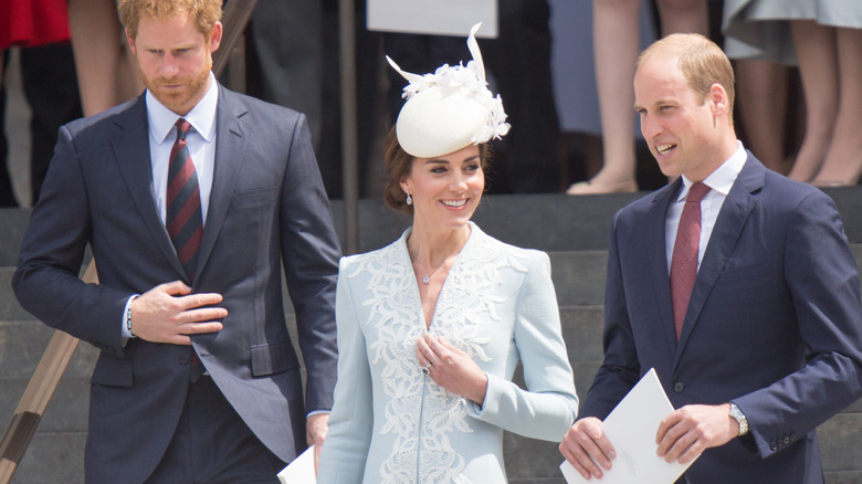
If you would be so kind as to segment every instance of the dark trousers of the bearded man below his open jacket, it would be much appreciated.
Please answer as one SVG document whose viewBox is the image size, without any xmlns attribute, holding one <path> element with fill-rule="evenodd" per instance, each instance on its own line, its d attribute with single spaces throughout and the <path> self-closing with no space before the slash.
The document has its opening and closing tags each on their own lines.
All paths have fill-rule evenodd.
<svg viewBox="0 0 862 484">
<path fill-rule="evenodd" d="M 147 483 L 277 484 L 285 465 L 204 376 L 189 383 L 177 431 Z"/>
</svg>

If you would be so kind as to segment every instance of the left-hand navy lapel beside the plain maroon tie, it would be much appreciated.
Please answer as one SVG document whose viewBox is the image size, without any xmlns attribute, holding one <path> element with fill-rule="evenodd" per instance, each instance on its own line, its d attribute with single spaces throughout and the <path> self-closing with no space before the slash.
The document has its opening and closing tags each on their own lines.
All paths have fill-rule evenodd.
<svg viewBox="0 0 862 484">
<path fill-rule="evenodd" d="M 649 236 L 644 255 L 649 261 L 649 273 L 659 307 L 660 328 L 658 333 L 661 335 L 662 343 L 671 348 L 671 351 L 676 347 L 676 333 L 673 327 L 673 311 L 671 309 L 671 281 L 667 274 L 667 243 L 664 236 L 664 225 L 667 210 L 681 187 L 682 179 L 677 179 L 670 187 L 655 193 L 644 223 L 644 227 L 650 228 L 650 230 L 643 231 Z"/>
</svg>

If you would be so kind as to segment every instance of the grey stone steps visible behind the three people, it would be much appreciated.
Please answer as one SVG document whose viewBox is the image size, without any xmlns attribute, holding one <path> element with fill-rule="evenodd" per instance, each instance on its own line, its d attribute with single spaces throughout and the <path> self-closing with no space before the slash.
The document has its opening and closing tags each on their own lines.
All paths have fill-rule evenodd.
<svg viewBox="0 0 862 484">
<path fill-rule="evenodd" d="M 858 265 L 862 262 L 862 189 L 828 189 L 839 206 Z M 566 197 L 488 196 L 475 221 L 497 239 L 549 252 L 560 305 L 564 338 L 578 394 L 586 394 L 601 359 L 605 271 L 612 214 L 643 193 Z M 344 204 L 333 203 L 341 233 Z M 10 287 L 12 266 L 29 218 L 28 210 L 0 210 L 0 422 L 8 422 L 42 357 L 52 329 L 20 308 Z M 360 248 L 378 249 L 398 238 L 409 219 L 377 200 L 359 204 Z M 537 230 L 538 228 L 538 230 Z M 285 308 L 292 312 L 290 299 Z M 288 314 L 288 328 L 295 324 Z M 81 344 L 48 407 L 13 483 L 83 483 L 88 381 L 97 350 Z M 827 483 L 862 482 L 862 403 L 856 402 L 820 428 Z M 509 482 L 564 484 L 555 443 L 506 434 Z"/>
</svg>

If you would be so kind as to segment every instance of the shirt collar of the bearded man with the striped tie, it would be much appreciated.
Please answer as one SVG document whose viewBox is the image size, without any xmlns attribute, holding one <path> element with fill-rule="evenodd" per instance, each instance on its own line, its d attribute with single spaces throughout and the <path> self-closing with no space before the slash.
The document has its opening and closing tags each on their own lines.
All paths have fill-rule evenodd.
<svg viewBox="0 0 862 484">
<path fill-rule="evenodd" d="M 218 101 L 219 86 L 216 82 L 216 76 L 210 72 L 210 87 L 207 90 L 207 94 L 191 108 L 189 114 L 182 116 L 195 128 L 195 131 L 208 143 L 212 141 L 216 135 L 216 106 Z M 180 116 L 165 107 L 149 90 L 147 90 L 146 103 L 149 134 L 160 145 L 165 143 Z"/>
</svg>

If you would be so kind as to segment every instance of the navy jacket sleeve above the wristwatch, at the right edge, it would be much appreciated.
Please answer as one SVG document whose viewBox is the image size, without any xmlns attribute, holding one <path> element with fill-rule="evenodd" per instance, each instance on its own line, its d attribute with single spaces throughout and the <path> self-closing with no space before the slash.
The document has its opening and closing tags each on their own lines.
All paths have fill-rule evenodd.
<svg viewBox="0 0 862 484">
<path fill-rule="evenodd" d="M 785 277 L 792 294 L 806 365 L 735 398 L 766 457 L 803 438 L 862 396 L 862 309 L 856 264 L 838 209 L 817 192 L 791 217 Z"/>
</svg>

